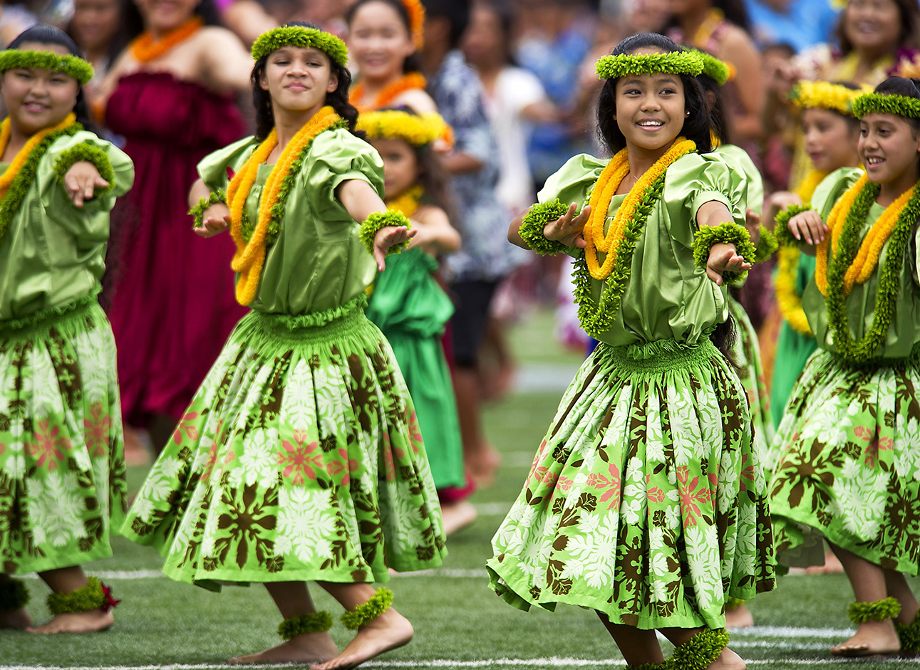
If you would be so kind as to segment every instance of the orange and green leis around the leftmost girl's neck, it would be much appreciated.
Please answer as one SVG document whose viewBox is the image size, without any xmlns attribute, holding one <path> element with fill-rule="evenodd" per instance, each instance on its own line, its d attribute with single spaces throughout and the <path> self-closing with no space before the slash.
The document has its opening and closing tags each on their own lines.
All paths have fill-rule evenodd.
<svg viewBox="0 0 920 670">
<path fill-rule="evenodd" d="M 10 221 L 16 216 L 22 200 L 29 192 L 29 186 L 35 180 L 41 157 L 58 138 L 73 135 L 81 130 L 83 126 L 76 122 L 75 115 L 68 114 L 56 126 L 42 129 L 32 135 L 16 154 L 3 175 L 0 175 L 0 242 L 6 237 Z M 7 117 L 0 126 L 0 154 L 6 151 L 10 133 L 11 121 Z"/>
</svg>

